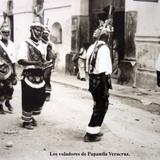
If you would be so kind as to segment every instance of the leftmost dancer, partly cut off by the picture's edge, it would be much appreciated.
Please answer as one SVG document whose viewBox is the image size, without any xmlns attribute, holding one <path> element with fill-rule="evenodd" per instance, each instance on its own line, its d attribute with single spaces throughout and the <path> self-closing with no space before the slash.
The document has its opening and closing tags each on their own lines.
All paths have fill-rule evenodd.
<svg viewBox="0 0 160 160">
<path fill-rule="evenodd" d="M 0 34 L 0 114 L 5 114 L 3 103 L 5 103 L 10 113 L 13 112 L 10 100 L 14 92 L 13 85 L 17 84 L 15 71 L 16 51 L 13 42 L 9 40 L 10 28 L 6 20 L 0 28 Z"/>
</svg>

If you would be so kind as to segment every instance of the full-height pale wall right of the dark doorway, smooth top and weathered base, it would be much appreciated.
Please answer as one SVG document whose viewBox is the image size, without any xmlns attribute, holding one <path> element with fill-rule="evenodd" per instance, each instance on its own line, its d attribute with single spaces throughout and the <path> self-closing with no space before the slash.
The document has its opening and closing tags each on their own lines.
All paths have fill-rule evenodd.
<svg viewBox="0 0 160 160">
<path fill-rule="evenodd" d="M 155 89 L 155 63 L 160 53 L 160 1 L 126 0 L 125 5 L 126 11 L 137 11 L 135 37 L 137 87 Z"/>
</svg>

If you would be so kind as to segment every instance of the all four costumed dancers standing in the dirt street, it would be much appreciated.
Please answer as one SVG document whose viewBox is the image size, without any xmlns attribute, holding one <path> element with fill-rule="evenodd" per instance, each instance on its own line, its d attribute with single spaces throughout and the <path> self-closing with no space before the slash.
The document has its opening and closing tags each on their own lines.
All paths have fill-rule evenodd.
<svg viewBox="0 0 160 160">
<path fill-rule="evenodd" d="M 0 113 L 4 114 L 3 104 L 13 111 L 9 100 L 12 98 L 13 85 L 16 82 L 16 51 L 9 40 L 9 27 L 4 23 L 1 27 L 0 41 Z M 49 29 L 38 21 L 30 26 L 30 37 L 21 45 L 17 62 L 23 66 L 22 88 L 22 126 L 34 129 L 37 121 L 34 116 L 41 113 L 45 100 L 49 100 L 51 84 L 50 76 L 56 54 L 50 43 Z M 89 73 L 89 91 L 94 100 L 93 113 L 88 124 L 85 142 L 101 140 L 103 133 L 100 127 L 108 109 L 108 83 L 112 73 L 110 51 L 106 44 L 108 30 L 105 27 L 95 30 L 95 42 L 87 50 L 87 68 Z"/>
</svg>

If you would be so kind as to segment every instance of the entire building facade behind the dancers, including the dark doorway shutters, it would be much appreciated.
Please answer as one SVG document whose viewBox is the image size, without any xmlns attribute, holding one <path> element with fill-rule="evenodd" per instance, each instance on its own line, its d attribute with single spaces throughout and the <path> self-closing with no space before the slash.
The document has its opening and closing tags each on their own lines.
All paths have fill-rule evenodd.
<svg viewBox="0 0 160 160">
<path fill-rule="evenodd" d="M 29 35 L 29 26 L 38 12 L 51 29 L 51 40 L 59 53 L 59 71 L 72 69 L 71 55 L 82 42 L 92 39 L 97 14 L 105 6 L 115 7 L 114 38 L 118 39 L 119 70 L 117 82 L 135 87 L 156 89 L 155 62 L 160 53 L 160 2 L 158 0 L 1 0 L 8 12 L 17 49 Z"/>
</svg>

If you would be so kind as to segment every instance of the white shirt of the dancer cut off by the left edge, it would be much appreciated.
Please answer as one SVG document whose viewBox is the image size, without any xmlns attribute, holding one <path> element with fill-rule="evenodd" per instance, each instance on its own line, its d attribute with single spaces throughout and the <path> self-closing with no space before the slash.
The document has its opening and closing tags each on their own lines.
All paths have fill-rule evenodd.
<svg viewBox="0 0 160 160">
<path fill-rule="evenodd" d="M 6 51 L 12 63 L 16 63 L 16 49 L 14 43 L 11 40 L 8 40 L 8 45 L 6 46 L 2 41 L 0 41 L 0 45 Z"/>
</svg>

